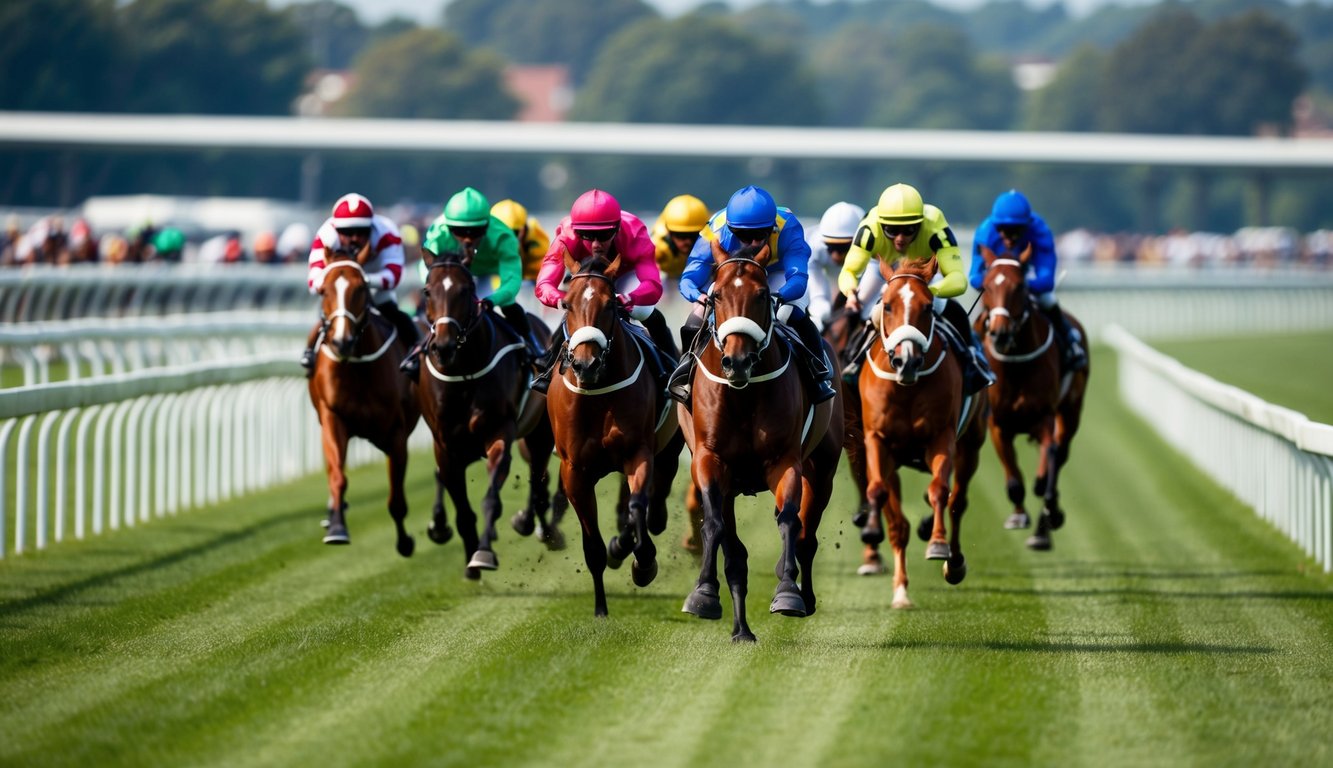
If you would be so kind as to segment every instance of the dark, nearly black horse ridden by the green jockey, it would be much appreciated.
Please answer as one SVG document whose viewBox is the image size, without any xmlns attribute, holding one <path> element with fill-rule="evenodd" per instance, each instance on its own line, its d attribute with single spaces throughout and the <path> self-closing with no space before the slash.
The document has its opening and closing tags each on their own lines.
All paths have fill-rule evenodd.
<svg viewBox="0 0 1333 768">
<path fill-rule="evenodd" d="M 427 535 L 436 544 L 453 536 L 444 508 L 444 492 L 455 507 L 455 523 L 468 559 L 467 576 L 495 571 L 496 520 L 503 513 L 500 489 L 509 477 L 512 445 L 527 441 L 528 507 L 515 517 L 515 528 L 532 533 L 533 516 L 541 520 L 544 539 L 553 547 L 559 531 L 547 520 L 551 507 L 547 463 L 555 439 L 545 407 L 531 399 L 525 344 L 508 323 L 477 299 L 471 256 L 455 252 L 421 253 L 427 269 L 423 300 L 429 324 L 417 392 L 421 415 L 435 436 L 435 507 Z M 529 323 L 543 344 L 551 331 L 535 316 Z M 481 501 L 484 527 L 477 536 L 477 515 L 468 501 L 467 469 L 487 460 L 487 493 Z M 555 548 L 555 547 L 553 547 Z"/>
</svg>

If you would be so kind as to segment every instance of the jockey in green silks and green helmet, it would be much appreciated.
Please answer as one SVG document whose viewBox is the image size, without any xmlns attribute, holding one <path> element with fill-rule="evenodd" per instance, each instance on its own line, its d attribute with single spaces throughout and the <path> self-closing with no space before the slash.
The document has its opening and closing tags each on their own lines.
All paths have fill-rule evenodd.
<svg viewBox="0 0 1333 768">
<path fill-rule="evenodd" d="M 471 257 L 468 271 L 476 279 L 477 299 L 484 305 L 500 308 L 519 339 L 528 345 L 531 359 L 536 360 L 541 355 L 541 347 L 528 324 L 528 312 L 519 304 L 519 287 L 523 283 L 519 239 L 508 224 L 491 213 L 491 201 L 485 195 L 468 187 L 449 197 L 444 204 L 444 213 L 427 229 L 423 248 L 436 256 L 452 251 Z M 423 261 L 423 281 L 425 269 Z M 420 349 L 413 349 L 403 361 L 403 369 L 413 376 L 421 367 L 416 352 Z"/>
</svg>

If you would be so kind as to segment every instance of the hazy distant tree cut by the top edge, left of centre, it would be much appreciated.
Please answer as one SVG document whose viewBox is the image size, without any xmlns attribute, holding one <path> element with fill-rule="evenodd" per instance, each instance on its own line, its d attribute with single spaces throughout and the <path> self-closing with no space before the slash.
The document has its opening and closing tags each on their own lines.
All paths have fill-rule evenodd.
<svg viewBox="0 0 1333 768">
<path fill-rule="evenodd" d="M 455 0 L 445 28 L 521 64 L 564 64 L 581 84 L 603 45 L 636 21 L 656 19 L 643 0 Z"/>
</svg>

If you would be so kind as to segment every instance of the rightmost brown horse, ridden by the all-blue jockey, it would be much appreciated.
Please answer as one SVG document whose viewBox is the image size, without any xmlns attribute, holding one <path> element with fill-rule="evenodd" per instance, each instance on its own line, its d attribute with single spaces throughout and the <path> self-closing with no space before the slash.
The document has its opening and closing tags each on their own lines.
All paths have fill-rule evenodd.
<svg viewBox="0 0 1333 768">
<path fill-rule="evenodd" d="M 1090 367 L 1061 375 L 1054 328 L 1028 291 L 1028 261 L 1032 245 L 1018 255 L 997 256 L 981 248 L 986 277 L 981 287 L 985 312 L 977 319 L 984 335 L 986 357 L 996 373 L 990 387 L 990 441 L 1004 465 L 1005 485 L 1013 512 L 1005 528 L 1032 525 L 1024 508 L 1022 471 L 1014 456 L 1013 439 L 1029 435 L 1040 444 L 1037 477 L 1032 492 L 1045 501 L 1037 531 L 1028 539 L 1032 549 L 1050 549 L 1050 532 L 1065 523 L 1060 508 L 1060 468 L 1069 460 L 1069 444 L 1078 432 Z M 1069 324 L 1082 325 L 1065 312 Z"/>
</svg>

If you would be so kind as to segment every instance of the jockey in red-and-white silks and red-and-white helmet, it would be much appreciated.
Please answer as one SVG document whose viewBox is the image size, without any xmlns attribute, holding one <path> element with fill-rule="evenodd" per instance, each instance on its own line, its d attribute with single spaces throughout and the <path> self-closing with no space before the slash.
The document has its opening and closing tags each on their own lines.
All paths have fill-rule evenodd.
<svg viewBox="0 0 1333 768">
<path fill-rule="evenodd" d="M 393 323 L 408 347 L 416 344 L 417 328 L 403 309 L 399 309 L 395 289 L 403 279 L 403 241 L 399 237 L 399 228 L 384 216 L 375 213 L 371 201 L 357 193 L 339 197 L 333 204 L 333 215 L 315 232 L 315 241 L 311 243 L 309 272 L 307 285 L 311 293 L 319 293 L 324 288 L 324 249 L 337 253 L 356 255 L 371 244 L 371 256 L 361 268 L 365 271 L 365 281 L 371 287 L 371 304 L 380 311 L 384 317 Z M 301 367 L 307 376 L 315 372 L 315 349 L 319 345 L 323 323 L 317 324 L 305 344 L 301 355 Z"/>
</svg>

